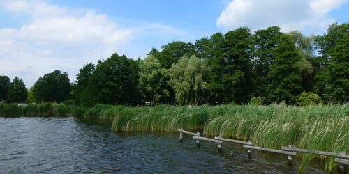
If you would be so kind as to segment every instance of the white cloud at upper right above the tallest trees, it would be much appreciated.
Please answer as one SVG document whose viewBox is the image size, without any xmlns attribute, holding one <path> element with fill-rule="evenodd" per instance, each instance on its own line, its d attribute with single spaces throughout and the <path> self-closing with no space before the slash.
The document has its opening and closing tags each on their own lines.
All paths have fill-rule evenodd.
<svg viewBox="0 0 349 174">
<path fill-rule="evenodd" d="M 322 33 L 335 22 L 331 10 L 346 0 L 234 0 L 218 17 L 216 24 L 227 29 L 248 26 L 254 30 L 280 26 L 285 32 Z"/>
</svg>

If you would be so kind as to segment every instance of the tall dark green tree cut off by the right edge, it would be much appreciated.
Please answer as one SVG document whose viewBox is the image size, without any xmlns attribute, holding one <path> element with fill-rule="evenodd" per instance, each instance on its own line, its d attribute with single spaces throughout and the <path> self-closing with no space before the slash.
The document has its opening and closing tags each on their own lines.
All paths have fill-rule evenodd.
<svg viewBox="0 0 349 174">
<path fill-rule="evenodd" d="M 315 76 L 315 92 L 327 102 L 348 102 L 349 96 L 349 23 L 332 24 L 317 45 L 320 72 Z"/>
</svg>

